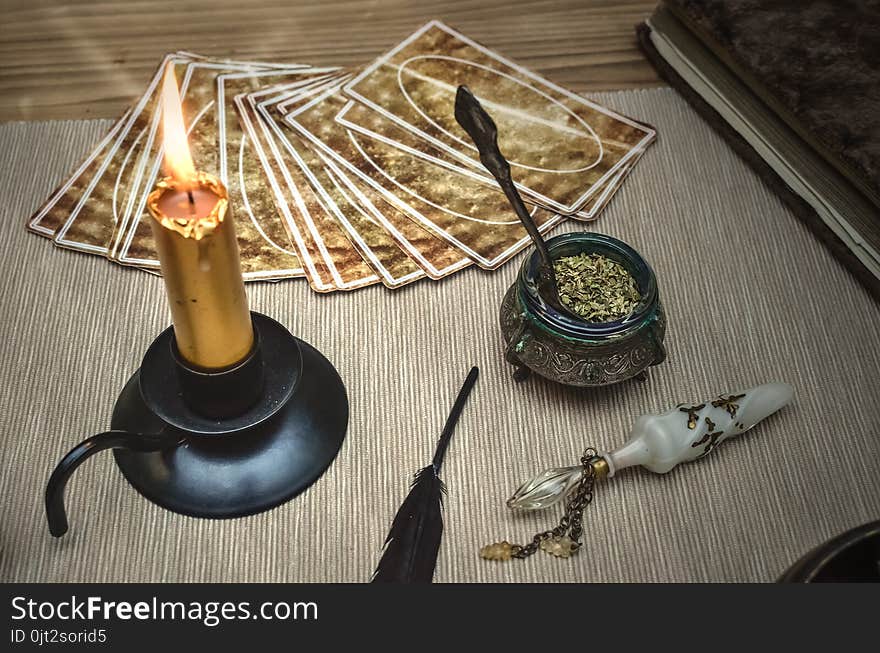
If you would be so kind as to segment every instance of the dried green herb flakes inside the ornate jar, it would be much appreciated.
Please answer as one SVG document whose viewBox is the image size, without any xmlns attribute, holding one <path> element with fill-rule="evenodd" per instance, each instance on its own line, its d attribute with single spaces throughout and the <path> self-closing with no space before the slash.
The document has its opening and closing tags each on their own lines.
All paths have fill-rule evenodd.
<svg viewBox="0 0 880 653">
<path fill-rule="evenodd" d="M 559 299 L 587 322 L 626 317 L 641 295 L 629 271 L 601 254 L 564 256 L 553 262 Z"/>
</svg>

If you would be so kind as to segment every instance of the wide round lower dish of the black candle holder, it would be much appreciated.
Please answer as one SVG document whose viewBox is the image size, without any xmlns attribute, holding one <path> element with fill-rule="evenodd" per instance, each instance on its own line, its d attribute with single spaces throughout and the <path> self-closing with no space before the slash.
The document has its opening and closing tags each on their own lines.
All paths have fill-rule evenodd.
<svg viewBox="0 0 880 653">
<path fill-rule="evenodd" d="M 234 435 L 189 432 L 173 449 L 116 449 L 123 476 L 153 503 L 193 517 L 251 515 L 305 490 L 342 446 L 348 401 L 330 362 L 296 340 L 303 380 L 275 415 Z M 132 377 L 119 397 L 113 429 L 138 430 L 146 419 L 158 420 L 144 403 L 138 380 Z"/>
</svg>

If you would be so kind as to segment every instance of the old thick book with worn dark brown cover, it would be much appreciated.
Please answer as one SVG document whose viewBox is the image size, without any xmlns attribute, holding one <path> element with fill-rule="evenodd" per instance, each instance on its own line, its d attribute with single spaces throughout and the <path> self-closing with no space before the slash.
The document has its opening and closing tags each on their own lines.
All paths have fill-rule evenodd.
<svg viewBox="0 0 880 653">
<path fill-rule="evenodd" d="M 880 3 L 667 0 L 638 34 L 880 298 Z"/>
</svg>

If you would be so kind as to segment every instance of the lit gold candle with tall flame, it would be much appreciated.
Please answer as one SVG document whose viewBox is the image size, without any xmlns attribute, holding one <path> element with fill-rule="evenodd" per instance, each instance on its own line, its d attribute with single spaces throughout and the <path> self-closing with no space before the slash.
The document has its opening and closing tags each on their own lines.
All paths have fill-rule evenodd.
<svg viewBox="0 0 880 653">
<path fill-rule="evenodd" d="M 167 176 L 150 193 L 147 208 L 177 349 L 195 368 L 230 367 L 254 344 L 232 211 L 220 180 L 193 165 L 170 65 L 162 88 L 162 131 Z"/>
</svg>

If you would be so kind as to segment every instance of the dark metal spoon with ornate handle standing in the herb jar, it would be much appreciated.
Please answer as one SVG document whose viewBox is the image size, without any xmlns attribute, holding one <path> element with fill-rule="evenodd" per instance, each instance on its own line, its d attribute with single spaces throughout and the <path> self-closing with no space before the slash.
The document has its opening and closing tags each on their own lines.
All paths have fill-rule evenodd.
<svg viewBox="0 0 880 653">
<path fill-rule="evenodd" d="M 514 212 L 535 244 L 535 249 L 538 250 L 538 256 L 541 259 L 538 268 L 538 293 L 544 298 L 544 301 L 563 315 L 575 320 L 582 319 L 568 310 L 559 299 L 559 287 L 556 285 L 553 259 L 550 258 L 550 252 L 541 237 L 541 232 L 538 231 L 538 226 L 523 204 L 516 186 L 513 185 L 513 179 L 510 177 L 510 164 L 498 148 L 498 128 L 467 86 L 459 86 L 455 93 L 455 119 L 474 141 L 474 145 L 477 146 L 477 151 L 480 153 L 480 161 L 498 181 L 501 190 L 504 191 Z"/>
</svg>

